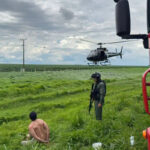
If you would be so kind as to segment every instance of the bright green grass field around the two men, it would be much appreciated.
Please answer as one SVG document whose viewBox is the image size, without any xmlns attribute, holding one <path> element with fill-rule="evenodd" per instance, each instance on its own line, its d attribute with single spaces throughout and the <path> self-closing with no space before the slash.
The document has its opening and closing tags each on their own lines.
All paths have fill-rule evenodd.
<svg viewBox="0 0 150 150">
<path fill-rule="evenodd" d="M 144 111 L 141 77 L 146 67 L 102 67 L 49 72 L 0 73 L 0 150 L 145 150 L 142 131 L 150 126 Z M 107 83 L 103 121 L 88 114 L 90 75 Z M 28 115 L 36 111 L 50 127 L 50 144 L 21 146 Z M 130 146 L 130 136 L 135 145 Z"/>
</svg>

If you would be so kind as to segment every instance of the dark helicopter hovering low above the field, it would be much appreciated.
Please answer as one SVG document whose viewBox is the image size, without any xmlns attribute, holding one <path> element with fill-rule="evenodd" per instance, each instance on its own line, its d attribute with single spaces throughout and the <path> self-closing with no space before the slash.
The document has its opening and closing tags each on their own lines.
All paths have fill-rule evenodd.
<svg viewBox="0 0 150 150">
<path fill-rule="evenodd" d="M 87 56 L 87 60 L 93 62 L 95 65 L 97 65 L 98 62 L 100 62 L 101 65 L 110 65 L 111 64 L 109 60 L 110 57 L 120 56 L 120 58 L 122 59 L 123 46 L 121 47 L 120 52 L 117 52 L 117 49 L 116 52 L 109 52 L 107 48 L 103 47 L 103 45 L 129 42 L 129 41 L 117 41 L 117 42 L 108 42 L 108 43 L 95 43 L 85 39 L 80 39 L 80 40 L 97 44 L 100 46 L 95 50 L 91 50 L 89 55 Z M 88 65 L 90 65 L 90 63 L 88 63 Z"/>
</svg>

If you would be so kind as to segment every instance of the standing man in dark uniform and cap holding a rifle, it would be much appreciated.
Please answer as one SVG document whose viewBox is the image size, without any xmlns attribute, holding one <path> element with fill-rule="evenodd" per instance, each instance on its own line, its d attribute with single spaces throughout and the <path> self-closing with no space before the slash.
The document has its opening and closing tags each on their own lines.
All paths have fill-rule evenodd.
<svg viewBox="0 0 150 150">
<path fill-rule="evenodd" d="M 91 78 L 94 80 L 94 84 L 91 89 L 91 97 L 95 104 L 96 120 L 102 120 L 102 108 L 104 104 L 104 97 L 106 95 L 106 85 L 105 82 L 101 80 L 100 73 L 92 74 Z"/>
</svg>

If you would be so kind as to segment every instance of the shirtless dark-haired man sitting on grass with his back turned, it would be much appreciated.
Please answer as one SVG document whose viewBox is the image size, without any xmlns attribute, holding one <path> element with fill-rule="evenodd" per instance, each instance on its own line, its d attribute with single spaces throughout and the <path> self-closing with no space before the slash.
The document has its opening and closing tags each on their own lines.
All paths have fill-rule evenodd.
<svg viewBox="0 0 150 150">
<path fill-rule="evenodd" d="M 49 143 L 49 128 L 47 124 L 41 120 L 37 119 L 37 114 L 31 112 L 29 115 L 32 122 L 29 125 L 29 135 L 27 136 L 27 141 L 22 141 L 22 145 L 27 145 L 33 143 L 35 140 L 42 143 Z M 29 140 L 32 137 L 32 140 Z"/>
</svg>

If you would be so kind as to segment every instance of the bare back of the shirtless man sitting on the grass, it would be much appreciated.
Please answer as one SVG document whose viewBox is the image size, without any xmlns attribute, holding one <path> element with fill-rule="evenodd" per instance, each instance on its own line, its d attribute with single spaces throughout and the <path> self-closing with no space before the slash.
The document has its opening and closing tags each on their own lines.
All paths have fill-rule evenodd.
<svg viewBox="0 0 150 150">
<path fill-rule="evenodd" d="M 41 119 L 32 121 L 29 125 L 30 135 L 39 142 L 49 142 L 49 128 L 48 125 Z"/>
</svg>

